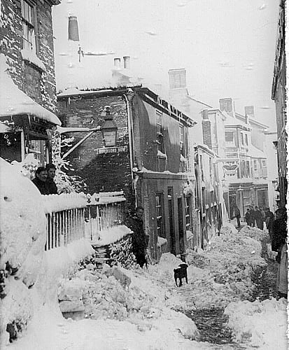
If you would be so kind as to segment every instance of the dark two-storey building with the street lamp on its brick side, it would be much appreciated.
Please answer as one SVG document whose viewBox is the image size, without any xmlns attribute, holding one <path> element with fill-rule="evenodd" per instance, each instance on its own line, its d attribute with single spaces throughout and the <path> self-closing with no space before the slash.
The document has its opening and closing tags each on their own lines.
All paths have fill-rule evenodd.
<svg viewBox="0 0 289 350">
<path fill-rule="evenodd" d="M 90 193 L 124 190 L 128 210 L 144 207 L 155 260 L 162 251 L 183 253 L 192 227 L 194 197 L 185 197 L 184 188 L 194 122 L 146 87 L 66 90 L 58 95 L 58 108 L 64 127 L 97 130 L 68 156 L 73 175 L 85 180 Z M 107 120 L 117 127 L 110 144 L 104 144 Z M 85 137 L 75 135 L 75 143 Z"/>
</svg>

